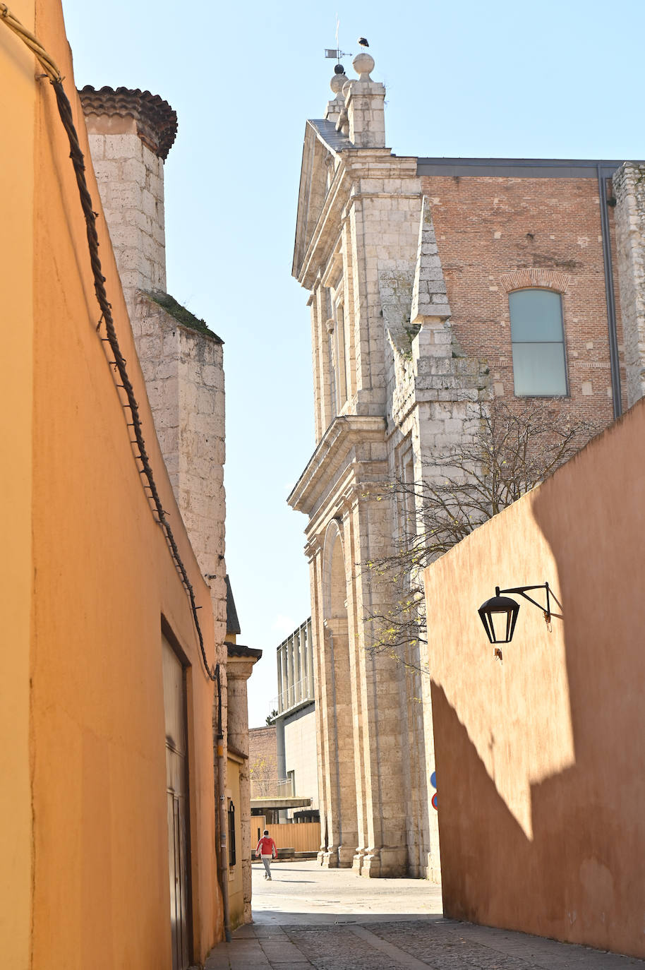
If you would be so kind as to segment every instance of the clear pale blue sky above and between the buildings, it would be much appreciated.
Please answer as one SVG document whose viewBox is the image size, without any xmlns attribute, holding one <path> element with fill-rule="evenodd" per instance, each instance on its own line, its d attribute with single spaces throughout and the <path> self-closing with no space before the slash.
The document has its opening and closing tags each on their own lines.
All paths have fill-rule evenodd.
<svg viewBox="0 0 645 970">
<path fill-rule="evenodd" d="M 307 117 L 366 37 L 400 155 L 645 158 L 645 4 L 62 0 L 79 87 L 140 87 L 177 111 L 165 167 L 168 291 L 224 340 L 226 564 L 264 651 L 249 726 L 277 694 L 275 648 L 310 614 L 306 517 L 286 499 L 314 448 L 306 292 L 291 277 Z M 342 59 L 354 77 L 351 57 Z"/>
</svg>

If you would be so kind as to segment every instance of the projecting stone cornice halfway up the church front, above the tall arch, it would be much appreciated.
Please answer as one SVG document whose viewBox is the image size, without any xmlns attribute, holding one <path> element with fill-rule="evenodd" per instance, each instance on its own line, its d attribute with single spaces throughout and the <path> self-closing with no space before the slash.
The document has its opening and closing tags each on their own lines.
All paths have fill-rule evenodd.
<svg viewBox="0 0 645 970">
<path fill-rule="evenodd" d="M 349 414 L 335 418 L 287 499 L 289 505 L 310 515 L 316 502 L 330 491 L 352 448 L 360 443 L 383 441 L 384 437 L 383 417 Z"/>
</svg>

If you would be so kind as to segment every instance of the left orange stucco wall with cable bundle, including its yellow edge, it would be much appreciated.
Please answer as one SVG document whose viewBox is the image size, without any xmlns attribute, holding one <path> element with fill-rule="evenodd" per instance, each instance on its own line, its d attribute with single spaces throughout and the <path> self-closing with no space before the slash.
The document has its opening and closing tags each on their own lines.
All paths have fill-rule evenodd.
<svg viewBox="0 0 645 970">
<path fill-rule="evenodd" d="M 60 5 L 19 0 L 72 99 Z M 215 870 L 212 684 L 188 600 L 150 512 L 96 333 L 85 227 L 47 81 L 0 24 L 3 580 L 0 940 L 9 966 L 171 967 L 162 617 L 188 663 L 194 958 L 221 936 Z M 9 176 L 8 176 L 9 173 Z M 108 231 L 101 258 L 148 454 L 196 591 L 213 662 L 210 592 L 153 431 Z M 11 242 L 11 244 L 9 244 Z M 5 867 L 4 860 L 9 860 Z M 7 949 L 9 948 L 9 949 Z M 28 954 L 32 953 L 32 963 Z"/>
</svg>

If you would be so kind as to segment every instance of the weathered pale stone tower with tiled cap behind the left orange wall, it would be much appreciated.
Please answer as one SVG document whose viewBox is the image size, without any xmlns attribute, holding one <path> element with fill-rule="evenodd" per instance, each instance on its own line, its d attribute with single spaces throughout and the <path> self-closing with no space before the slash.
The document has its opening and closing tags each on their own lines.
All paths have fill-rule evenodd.
<svg viewBox="0 0 645 970">
<path fill-rule="evenodd" d="M 222 340 L 166 292 L 164 160 L 177 114 L 149 91 L 86 85 L 80 95 L 155 431 L 210 583 L 215 642 L 225 663 Z"/>
</svg>

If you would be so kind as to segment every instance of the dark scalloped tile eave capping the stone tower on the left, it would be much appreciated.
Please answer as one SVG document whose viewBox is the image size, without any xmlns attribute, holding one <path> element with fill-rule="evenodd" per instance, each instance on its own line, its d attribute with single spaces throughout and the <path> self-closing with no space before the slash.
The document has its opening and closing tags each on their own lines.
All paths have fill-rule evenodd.
<svg viewBox="0 0 645 970">
<path fill-rule="evenodd" d="M 98 90 L 91 84 L 79 91 L 85 114 L 107 117 L 131 117 L 137 124 L 137 134 L 158 158 L 166 158 L 177 135 L 177 112 L 158 94 L 150 94 L 138 87 L 109 87 Z"/>
</svg>

